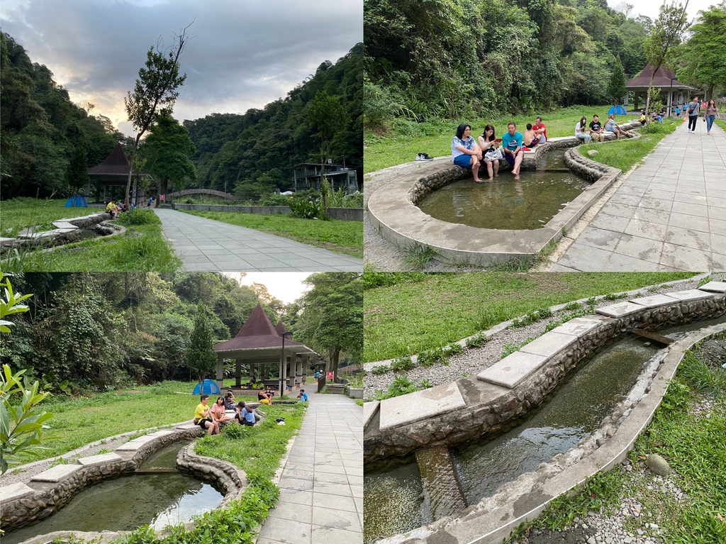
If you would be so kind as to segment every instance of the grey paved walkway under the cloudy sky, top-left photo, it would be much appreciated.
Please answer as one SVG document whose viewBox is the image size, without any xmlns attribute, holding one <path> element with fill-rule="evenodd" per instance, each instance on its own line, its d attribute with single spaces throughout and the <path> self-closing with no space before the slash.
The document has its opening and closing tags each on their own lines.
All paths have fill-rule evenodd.
<svg viewBox="0 0 726 544">
<path fill-rule="evenodd" d="M 167 208 L 154 210 L 185 272 L 362 272 L 363 260 Z M 361 228 L 363 226 L 361 225 Z"/>
</svg>

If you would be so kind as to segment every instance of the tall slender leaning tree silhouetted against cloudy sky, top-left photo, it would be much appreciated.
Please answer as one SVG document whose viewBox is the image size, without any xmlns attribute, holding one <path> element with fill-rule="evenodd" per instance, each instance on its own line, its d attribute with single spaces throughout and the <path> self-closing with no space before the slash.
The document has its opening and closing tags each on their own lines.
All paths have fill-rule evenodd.
<svg viewBox="0 0 726 544">
<path fill-rule="evenodd" d="M 131 177 L 133 176 L 136 151 L 139 150 L 139 141 L 154 121 L 159 108 L 166 107 L 171 110 L 174 107 L 176 97 L 179 97 L 177 89 L 187 79 L 187 74 L 179 76 L 179 57 L 189 41 L 189 26 L 187 25 L 181 29 L 178 35 L 174 36 L 173 49 L 164 51 L 158 46 L 152 46 L 149 49 L 146 55 L 146 68 L 139 68 L 139 78 L 136 79 L 134 91 L 129 91 L 126 98 L 123 99 L 129 121 L 137 131 L 134 149 L 131 150 L 129 158 L 129 177 L 126 179 L 127 209 L 129 208 Z"/>
</svg>

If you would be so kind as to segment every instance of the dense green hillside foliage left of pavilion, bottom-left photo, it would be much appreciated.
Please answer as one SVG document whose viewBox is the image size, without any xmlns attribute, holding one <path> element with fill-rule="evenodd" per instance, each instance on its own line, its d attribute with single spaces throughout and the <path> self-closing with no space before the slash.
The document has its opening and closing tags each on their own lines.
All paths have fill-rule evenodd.
<svg viewBox="0 0 726 544">
<path fill-rule="evenodd" d="M 237 334 L 258 303 L 254 291 L 215 274 L 25 274 L 15 287 L 34 293 L 17 318 L 2 360 L 45 376 L 49 390 L 196 378 L 184 354 L 200 302 L 213 341 Z M 269 312 L 277 321 L 274 312 Z"/>
</svg>

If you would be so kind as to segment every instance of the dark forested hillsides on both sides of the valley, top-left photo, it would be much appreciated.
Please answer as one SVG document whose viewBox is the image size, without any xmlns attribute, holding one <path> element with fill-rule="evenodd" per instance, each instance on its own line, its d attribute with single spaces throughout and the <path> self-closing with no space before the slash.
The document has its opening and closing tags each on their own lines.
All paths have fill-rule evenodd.
<svg viewBox="0 0 726 544">
<path fill-rule="evenodd" d="M 52 71 L 33 63 L 6 33 L 1 34 L 0 70 L 1 198 L 69 195 L 85 187 L 88 166 L 101 163 L 118 142 L 128 144 L 129 138 L 110 119 L 92 115 L 92 105 L 73 104 L 68 91 L 53 81 Z M 363 45 L 357 44 L 335 64 L 322 62 L 287 97 L 262 110 L 211 113 L 184 121 L 184 127 L 164 112 L 166 118 L 150 129 L 153 150 L 145 153 L 143 142 L 140 147 L 139 155 L 146 160 L 142 168 L 158 179 L 162 192 L 168 183 L 175 190 L 226 187 L 249 198 L 290 187 L 295 164 L 320 161 L 319 129 L 309 122 L 307 105 L 325 91 L 348 116 L 347 125 L 335 132 L 333 161 L 359 169 L 360 179 L 362 81 Z M 189 137 L 193 146 L 187 143 Z M 187 150 L 194 153 L 193 166 L 186 162 Z"/>
</svg>

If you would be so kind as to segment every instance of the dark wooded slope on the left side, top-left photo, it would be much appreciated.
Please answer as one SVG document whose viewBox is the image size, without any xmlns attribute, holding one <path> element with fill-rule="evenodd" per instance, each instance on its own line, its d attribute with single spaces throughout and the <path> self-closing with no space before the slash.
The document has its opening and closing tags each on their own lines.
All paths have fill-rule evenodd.
<svg viewBox="0 0 726 544">
<path fill-rule="evenodd" d="M 86 182 L 84 165 L 102 163 L 123 141 L 108 118 L 89 115 L 44 65 L 0 33 L 2 198 L 70 195 Z M 91 110 L 92 105 L 87 105 Z"/>
</svg>

